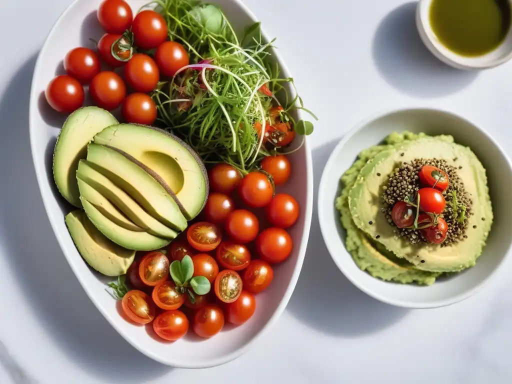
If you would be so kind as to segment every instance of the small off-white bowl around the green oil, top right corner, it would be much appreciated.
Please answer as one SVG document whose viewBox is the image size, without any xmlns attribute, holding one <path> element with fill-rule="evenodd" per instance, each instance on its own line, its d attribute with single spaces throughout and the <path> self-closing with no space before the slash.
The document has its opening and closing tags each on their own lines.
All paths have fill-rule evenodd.
<svg viewBox="0 0 512 384">
<path fill-rule="evenodd" d="M 507 0 L 512 6 L 512 0 Z M 457 69 L 486 69 L 497 67 L 512 57 L 512 28 L 505 40 L 495 50 L 477 57 L 465 57 L 447 49 L 437 38 L 430 24 L 430 7 L 433 0 L 420 0 L 416 9 L 416 26 L 426 48 L 434 56 Z"/>
</svg>

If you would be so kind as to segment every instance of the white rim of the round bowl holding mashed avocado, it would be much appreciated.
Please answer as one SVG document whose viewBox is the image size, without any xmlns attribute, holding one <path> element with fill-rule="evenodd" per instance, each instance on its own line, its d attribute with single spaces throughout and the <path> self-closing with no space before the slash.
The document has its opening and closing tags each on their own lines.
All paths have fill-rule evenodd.
<svg viewBox="0 0 512 384">
<path fill-rule="evenodd" d="M 445 298 L 445 299 L 442 299 L 442 300 L 436 300 L 436 301 L 429 302 L 429 303 L 416 303 L 416 302 L 415 303 L 411 303 L 411 302 L 409 302 L 407 300 L 391 299 L 391 298 L 387 297 L 386 295 L 380 294 L 376 290 L 368 288 L 364 283 L 360 283 L 359 279 L 354 278 L 354 276 L 345 269 L 344 262 L 342 262 L 343 258 L 350 258 L 351 261 L 353 262 L 352 255 L 350 254 L 350 252 L 347 251 L 347 249 L 345 247 L 345 243 L 342 241 L 343 246 L 344 246 L 343 250 L 344 250 L 344 252 L 346 252 L 346 255 L 342 255 L 342 257 L 335 257 L 334 255 L 338 254 L 339 250 L 333 246 L 333 244 L 332 244 L 332 242 L 331 242 L 331 240 L 329 238 L 328 232 L 327 232 L 328 226 L 332 226 L 333 223 L 327 222 L 327 219 L 326 219 L 326 216 L 325 216 L 326 215 L 325 212 L 326 212 L 326 209 L 328 209 L 327 207 L 332 208 L 332 202 L 326 201 L 327 199 L 323 198 L 323 196 L 326 195 L 326 184 L 327 184 L 328 178 L 329 178 L 328 174 L 331 173 L 331 168 L 334 165 L 334 162 L 335 162 L 335 159 L 337 157 L 337 154 L 340 151 L 343 150 L 343 147 L 345 146 L 345 144 L 357 132 L 359 132 L 360 130 L 364 129 L 364 127 L 366 127 L 371 122 L 373 122 L 375 120 L 378 120 L 378 119 L 381 119 L 381 118 L 386 117 L 386 116 L 397 114 L 397 113 L 413 112 L 413 111 L 418 111 L 418 112 L 437 112 L 437 113 L 440 112 L 440 113 L 443 113 L 443 114 L 447 114 L 447 115 L 453 116 L 453 117 L 455 117 L 457 119 L 460 119 L 460 120 L 462 120 L 462 121 L 464 121 L 464 122 L 466 122 L 468 124 L 473 125 L 490 142 L 492 142 L 493 145 L 495 145 L 497 150 L 500 152 L 501 156 L 506 160 L 506 162 L 508 164 L 509 172 L 512 173 L 512 162 L 510 161 L 510 158 L 507 156 L 507 154 L 505 153 L 505 151 L 503 150 L 501 145 L 492 136 L 490 136 L 485 130 L 483 130 L 480 125 L 478 125 L 478 124 L 476 124 L 476 123 L 466 119 L 465 117 L 460 116 L 459 114 L 456 114 L 454 112 L 451 112 L 449 110 L 445 110 L 445 109 L 442 109 L 442 108 L 431 108 L 431 107 L 424 107 L 424 106 L 417 106 L 417 107 L 411 106 L 411 107 L 406 107 L 406 108 L 393 108 L 393 109 L 381 110 L 380 112 L 377 112 L 377 113 L 375 113 L 375 114 L 365 118 L 364 120 L 361 120 L 359 123 L 357 123 L 336 144 L 336 146 L 334 147 L 332 153 L 330 154 L 329 159 L 327 160 L 327 163 L 326 163 L 326 165 L 324 167 L 324 170 L 322 172 L 322 178 L 320 180 L 320 184 L 319 184 L 319 188 L 318 188 L 318 206 L 317 206 L 317 209 L 318 209 L 318 221 L 319 221 L 319 224 L 320 224 L 320 230 L 322 232 L 322 236 L 324 238 L 325 244 L 327 246 L 327 249 L 329 250 L 329 253 L 331 255 L 332 260 L 334 261 L 336 266 L 339 268 L 339 270 L 342 271 L 342 273 L 345 275 L 345 277 L 352 284 L 354 284 L 358 289 L 360 289 L 362 292 L 365 292 L 366 294 L 368 294 L 369 296 L 375 298 L 378 301 L 381 301 L 383 303 L 390 304 L 390 305 L 393 305 L 393 306 L 396 306 L 396 307 L 409 308 L 409 309 L 439 308 L 439 307 L 445 307 L 445 306 L 449 306 L 449 305 L 461 302 L 461 301 L 465 300 L 466 298 L 473 296 L 480 289 L 482 289 L 490 281 L 490 279 L 492 279 L 496 275 L 496 273 L 498 272 L 500 267 L 503 265 L 505 260 L 509 257 L 510 250 L 512 250 L 512 242 L 511 242 L 511 244 L 509 244 L 509 246 L 508 246 L 508 248 L 506 250 L 505 255 L 503 256 L 502 260 L 498 263 L 496 268 L 494 268 L 494 270 L 492 272 L 490 272 L 486 276 L 485 279 L 483 279 L 479 284 L 475 285 L 473 288 L 468 289 L 465 292 L 460 293 L 458 295 L 452 296 L 450 298 Z M 342 170 L 342 173 L 339 174 L 339 177 L 342 176 L 342 174 L 345 172 L 345 170 L 346 169 Z M 357 272 L 367 273 L 366 271 L 361 271 L 359 269 L 358 269 Z M 384 282 L 384 281 L 382 281 L 382 282 Z M 393 283 L 390 283 L 390 282 L 385 282 L 385 283 L 393 284 Z"/>
</svg>

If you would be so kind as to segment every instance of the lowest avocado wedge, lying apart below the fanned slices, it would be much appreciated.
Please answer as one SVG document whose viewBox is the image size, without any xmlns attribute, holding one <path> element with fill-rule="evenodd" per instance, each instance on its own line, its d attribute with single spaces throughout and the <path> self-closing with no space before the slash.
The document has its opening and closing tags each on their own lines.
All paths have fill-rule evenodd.
<svg viewBox="0 0 512 384">
<path fill-rule="evenodd" d="M 65 220 L 71 238 L 87 264 L 107 276 L 126 273 L 135 258 L 134 250 L 122 248 L 103 236 L 82 210 L 70 212 Z"/>
</svg>

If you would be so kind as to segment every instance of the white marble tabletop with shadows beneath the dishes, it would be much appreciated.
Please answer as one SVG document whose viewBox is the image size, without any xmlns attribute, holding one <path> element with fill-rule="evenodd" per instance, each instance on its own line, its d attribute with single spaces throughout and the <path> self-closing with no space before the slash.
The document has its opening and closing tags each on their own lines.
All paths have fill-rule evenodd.
<svg viewBox="0 0 512 384">
<path fill-rule="evenodd" d="M 313 217 L 304 268 L 279 322 L 221 367 L 162 366 L 95 309 L 63 257 L 37 189 L 28 100 L 37 52 L 70 0 L 0 1 L 0 383 L 508 383 L 512 272 L 433 310 L 381 304 L 337 270 Z M 335 143 L 369 114 L 441 106 L 484 126 L 512 156 L 512 63 L 487 72 L 443 66 L 422 45 L 415 3 L 245 0 L 321 118 L 315 183 Z M 202 380 L 202 381 L 201 381 Z M 208 381 L 206 381 L 208 380 Z"/>
</svg>

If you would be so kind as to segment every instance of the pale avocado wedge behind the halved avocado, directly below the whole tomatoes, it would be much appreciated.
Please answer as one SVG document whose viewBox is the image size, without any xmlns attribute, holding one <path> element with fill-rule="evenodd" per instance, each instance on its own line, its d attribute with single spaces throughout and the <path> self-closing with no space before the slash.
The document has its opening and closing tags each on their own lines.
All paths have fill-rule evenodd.
<svg viewBox="0 0 512 384">
<path fill-rule="evenodd" d="M 80 192 L 76 182 L 78 161 L 87 156 L 87 144 L 104 127 L 117 124 L 109 112 L 96 106 L 80 108 L 62 125 L 53 151 L 53 178 L 60 194 L 80 208 Z"/>
</svg>

